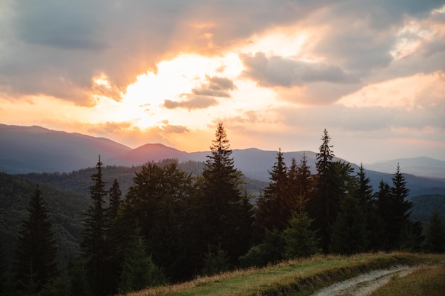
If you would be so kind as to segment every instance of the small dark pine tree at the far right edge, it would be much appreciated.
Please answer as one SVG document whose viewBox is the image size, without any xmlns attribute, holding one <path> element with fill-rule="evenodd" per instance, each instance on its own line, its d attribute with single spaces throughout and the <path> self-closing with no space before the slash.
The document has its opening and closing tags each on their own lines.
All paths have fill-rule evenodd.
<svg viewBox="0 0 445 296">
<path fill-rule="evenodd" d="M 445 225 L 442 223 L 441 216 L 437 209 L 434 209 L 429 218 L 425 236 L 423 244 L 424 251 L 430 253 L 445 252 Z"/>
</svg>

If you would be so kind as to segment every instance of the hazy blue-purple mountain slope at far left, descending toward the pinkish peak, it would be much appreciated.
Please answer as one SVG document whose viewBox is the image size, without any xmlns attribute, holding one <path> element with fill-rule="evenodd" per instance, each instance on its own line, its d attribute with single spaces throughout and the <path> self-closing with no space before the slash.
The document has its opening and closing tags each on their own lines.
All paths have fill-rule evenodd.
<svg viewBox="0 0 445 296">
<path fill-rule="evenodd" d="M 0 124 L 0 171 L 70 172 L 122 155 L 131 148 L 80 133 L 52 131 L 40 126 Z"/>
</svg>

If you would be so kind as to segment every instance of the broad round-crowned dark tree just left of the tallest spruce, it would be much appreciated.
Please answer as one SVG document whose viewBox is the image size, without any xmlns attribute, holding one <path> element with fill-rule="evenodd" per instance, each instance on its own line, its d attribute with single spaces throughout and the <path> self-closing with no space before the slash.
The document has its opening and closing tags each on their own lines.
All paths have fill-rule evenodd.
<svg viewBox="0 0 445 296">
<path fill-rule="evenodd" d="M 147 251 L 166 276 L 173 281 L 188 278 L 199 260 L 194 248 L 200 248 L 190 227 L 193 214 L 200 212 L 188 209 L 195 194 L 193 178 L 178 170 L 177 163 L 163 167 L 149 163 L 135 173 L 133 183 L 117 223 L 122 243 L 128 243 L 128 234 L 140 227 Z"/>
</svg>

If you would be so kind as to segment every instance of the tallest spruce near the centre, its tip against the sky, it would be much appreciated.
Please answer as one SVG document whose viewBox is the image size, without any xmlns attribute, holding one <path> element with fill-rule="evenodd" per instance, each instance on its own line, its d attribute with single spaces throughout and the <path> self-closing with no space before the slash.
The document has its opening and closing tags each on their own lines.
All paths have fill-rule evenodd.
<svg viewBox="0 0 445 296">
<path fill-rule="evenodd" d="M 201 234 L 210 246 L 226 251 L 233 262 L 250 246 L 252 214 L 247 194 L 242 192 L 242 174 L 233 165 L 232 150 L 221 122 L 210 149 L 201 185 L 205 226 Z"/>
</svg>

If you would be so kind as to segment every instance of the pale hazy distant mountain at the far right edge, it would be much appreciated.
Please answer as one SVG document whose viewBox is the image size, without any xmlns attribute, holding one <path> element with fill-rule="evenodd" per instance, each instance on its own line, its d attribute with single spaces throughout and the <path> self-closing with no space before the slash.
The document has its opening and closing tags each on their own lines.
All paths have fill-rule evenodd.
<svg viewBox="0 0 445 296">
<path fill-rule="evenodd" d="M 445 180 L 445 161 L 434 158 L 399 158 L 368 164 L 365 165 L 365 168 L 379 172 L 395 172 L 397 164 L 400 165 L 400 170 L 404 173 Z"/>
</svg>

